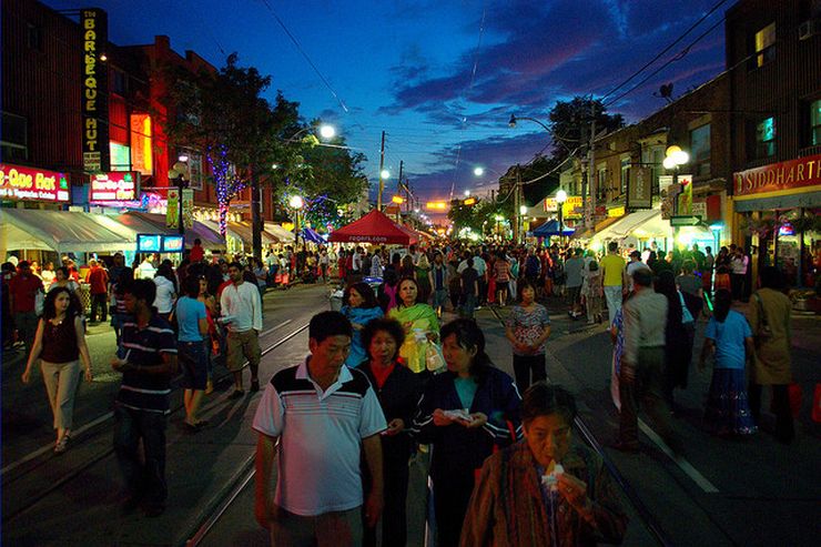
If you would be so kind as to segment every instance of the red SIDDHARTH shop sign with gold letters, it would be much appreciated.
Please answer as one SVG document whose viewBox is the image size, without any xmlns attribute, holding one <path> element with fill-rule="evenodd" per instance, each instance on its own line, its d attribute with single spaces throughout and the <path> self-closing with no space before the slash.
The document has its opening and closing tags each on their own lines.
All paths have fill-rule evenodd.
<svg viewBox="0 0 821 547">
<path fill-rule="evenodd" d="M 737 196 L 821 184 L 821 154 L 733 173 Z"/>
</svg>

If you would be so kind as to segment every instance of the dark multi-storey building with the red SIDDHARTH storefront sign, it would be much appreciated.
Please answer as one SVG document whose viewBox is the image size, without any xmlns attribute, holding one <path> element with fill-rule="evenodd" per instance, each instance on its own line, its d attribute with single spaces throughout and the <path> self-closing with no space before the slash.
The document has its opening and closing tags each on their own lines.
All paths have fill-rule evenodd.
<svg viewBox="0 0 821 547">
<path fill-rule="evenodd" d="M 813 285 L 821 253 L 821 2 L 746 0 L 727 12 L 733 240 L 752 263 Z M 754 273 L 754 272 L 753 272 Z"/>
</svg>

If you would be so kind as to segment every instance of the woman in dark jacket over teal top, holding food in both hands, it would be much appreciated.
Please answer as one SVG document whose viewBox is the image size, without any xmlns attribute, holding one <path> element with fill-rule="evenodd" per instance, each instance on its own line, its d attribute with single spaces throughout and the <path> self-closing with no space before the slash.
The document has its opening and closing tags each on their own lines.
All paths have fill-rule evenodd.
<svg viewBox="0 0 821 547">
<path fill-rule="evenodd" d="M 446 324 L 439 340 L 447 372 L 427 383 L 414 434 L 433 445 L 437 545 L 450 547 L 459 543 L 476 469 L 495 447 L 521 437 L 521 397 L 485 353 L 485 335 L 475 321 Z"/>
</svg>

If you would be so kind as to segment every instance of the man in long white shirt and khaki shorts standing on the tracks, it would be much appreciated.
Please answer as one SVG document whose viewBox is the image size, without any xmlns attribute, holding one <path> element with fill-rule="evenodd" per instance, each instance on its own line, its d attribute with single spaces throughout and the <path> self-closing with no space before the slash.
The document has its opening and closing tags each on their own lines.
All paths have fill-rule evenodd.
<svg viewBox="0 0 821 547">
<path fill-rule="evenodd" d="M 242 264 L 232 262 L 229 265 L 231 285 L 220 296 L 222 317 L 226 324 L 227 358 L 225 365 L 234 375 L 234 393 L 229 398 L 240 398 L 245 392 L 242 388 L 242 365 L 249 359 L 251 368 L 251 391 L 260 391 L 260 331 L 262 331 L 262 301 L 260 290 L 242 278 Z"/>
</svg>

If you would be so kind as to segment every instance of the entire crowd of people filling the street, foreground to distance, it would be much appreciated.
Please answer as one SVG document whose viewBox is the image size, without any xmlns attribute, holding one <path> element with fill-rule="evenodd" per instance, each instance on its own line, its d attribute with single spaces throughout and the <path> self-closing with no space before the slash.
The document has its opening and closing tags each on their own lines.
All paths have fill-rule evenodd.
<svg viewBox="0 0 821 547">
<path fill-rule="evenodd" d="M 770 385 L 776 436 L 783 443 L 794 436 L 787 391 L 791 306 L 782 277 L 762 269 L 744 317 L 731 305 L 749 297 L 747 255 L 705 251 L 693 245 L 660 259 L 656 249 L 615 242 L 604 255 L 557 244 L 456 243 L 402 253 L 378 246 L 273 260 L 270 253 L 264 262 L 206 261 L 191 252 L 178 265 L 149 256 L 131 267 L 118 253 L 109 264 L 91 260 L 83 269 L 88 310 L 72 260 L 42 271 L 23 261 L 3 265 L 3 312 L 13 317 L 3 321 L 3 342 L 24 344 L 24 383 L 39 363 L 54 452 L 62 454 L 80 377 L 92 379 L 85 330 L 110 318 L 116 333 L 111 366 L 122 374 L 114 447 L 125 506 L 149 516 L 163 513 L 168 496 L 171 381 L 182 373 L 183 426 L 195 434 L 207 426 L 200 407 L 213 391 L 213 364 L 223 359 L 233 375 L 229 398 L 243 397 L 246 385 L 264 392 L 253 422 L 256 518 L 274 545 L 323 538 L 376 545 L 379 523 L 382 545 L 405 545 L 408 462 L 417 453 L 430 454 L 437 545 L 618 543 L 627 517 L 609 476 L 595 453 L 570 442 L 572 396 L 546 383 L 546 303 L 590 325 L 608 317 L 619 409 L 615 448 L 639 449 L 642 407 L 668 446 L 681 450 L 670 411 L 676 389 L 687 388 L 699 321 L 707 322 L 699 369 L 712 361 L 706 427 L 720 436 L 754 433 L 762 387 Z M 339 283 L 343 306 L 312 318 L 310 356 L 263 388 L 262 297 L 272 285 L 290 284 L 283 276 L 292 272 L 305 282 Z M 515 379 L 486 352 L 475 321 L 483 306 L 506 308 Z M 17 334 L 8 333 L 9 324 Z"/>
</svg>

